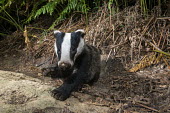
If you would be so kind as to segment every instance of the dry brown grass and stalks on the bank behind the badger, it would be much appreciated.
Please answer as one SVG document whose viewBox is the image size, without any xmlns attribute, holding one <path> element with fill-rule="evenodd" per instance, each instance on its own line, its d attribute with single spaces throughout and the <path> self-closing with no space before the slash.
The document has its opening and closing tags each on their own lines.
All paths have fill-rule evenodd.
<svg viewBox="0 0 170 113">
<path fill-rule="evenodd" d="M 113 14 L 105 5 L 89 15 L 88 25 L 85 17 L 79 19 L 73 15 L 57 29 L 64 32 L 85 29 L 86 42 L 99 47 L 108 58 L 130 55 L 131 61 L 140 61 L 153 50 L 169 51 L 170 18 L 160 18 L 160 12 L 159 8 L 155 8 L 151 15 L 144 17 L 136 4 Z M 52 55 L 53 41 L 53 32 L 44 36 L 43 43 L 34 46 L 34 57 Z"/>
</svg>

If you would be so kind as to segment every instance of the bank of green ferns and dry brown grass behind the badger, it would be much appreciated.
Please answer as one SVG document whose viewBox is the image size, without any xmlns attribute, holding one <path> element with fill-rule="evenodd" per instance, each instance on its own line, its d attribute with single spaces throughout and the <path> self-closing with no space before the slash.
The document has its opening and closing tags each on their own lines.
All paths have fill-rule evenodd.
<svg viewBox="0 0 170 113">
<path fill-rule="evenodd" d="M 101 48 L 103 54 L 107 54 L 107 59 L 117 55 L 124 57 L 129 55 L 133 61 L 142 59 L 142 56 L 152 52 L 156 56 L 163 54 L 169 59 L 169 18 L 161 17 L 161 4 L 166 2 L 166 0 L 139 0 L 133 3 L 130 0 L 108 0 L 107 2 L 100 0 L 92 2 L 87 0 L 39 0 L 38 2 L 2 0 L 0 1 L 0 23 L 3 26 L 1 27 L 3 32 L 0 35 L 4 36 L 9 32 L 8 29 L 13 29 L 11 26 L 14 26 L 17 30 L 15 33 L 21 35 L 12 35 L 17 36 L 16 39 L 25 40 L 30 55 L 39 58 L 45 53 L 53 54 L 51 45 L 54 40 L 51 29 L 71 32 L 84 28 L 86 41 Z M 16 8 L 17 10 L 12 10 Z M 32 21 L 42 24 L 42 15 L 53 17 L 54 21 L 48 26 L 50 29 L 29 25 Z M 5 53 L 10 48 L 13 49 L 11 45 L 16 45 L 14 42 L 17 43 L 17 41 L 12 43 L 10 41 L 13 39 L 0 41 L 0 46 L 2 46 L 0 52 Z M 19 43 L 17 45 L 21 46 Z M 142 67 L 145 66 L 142 64 Z"/>
</svg>

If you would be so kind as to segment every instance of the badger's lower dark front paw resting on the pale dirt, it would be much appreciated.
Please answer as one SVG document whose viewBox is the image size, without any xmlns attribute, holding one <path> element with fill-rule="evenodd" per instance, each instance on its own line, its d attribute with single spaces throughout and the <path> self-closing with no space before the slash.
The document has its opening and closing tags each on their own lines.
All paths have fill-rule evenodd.
<svg viewBox="0 0 170 113">
<path fill-rule="evenodd" d="M 51 93 L 55 99 L 61 101 L 66 100 L 70 96 L 70 93 L 68 93 L 66 90 L 63 90 L 62 88 L 56 88 L 52 90 Z"/>
</svg>

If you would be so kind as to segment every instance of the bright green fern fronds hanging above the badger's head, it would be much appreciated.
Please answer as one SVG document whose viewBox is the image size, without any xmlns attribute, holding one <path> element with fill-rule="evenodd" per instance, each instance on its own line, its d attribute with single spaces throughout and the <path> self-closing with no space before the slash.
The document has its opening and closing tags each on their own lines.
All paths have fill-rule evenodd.
<svg viewBox="0 0 170 113">
<path fill-rule="evenodd" d="M 37 6 L 41 7 L 38 9 Z M 51 0 L 46 2 L 45 5 L 40 5 L 38 2 L 33 5 L 33 10 L 26 22 L 30 22 L 42 14 L 49 14 L 50 16 L 53 15 L 56 18 L 50 27 L 53 28 L 56 23 L 66 19 L 72 12 L 80 12 L 87 15 L 88 11 L 89 6 L 86 4 L 85 0 Z"/>
</svg>

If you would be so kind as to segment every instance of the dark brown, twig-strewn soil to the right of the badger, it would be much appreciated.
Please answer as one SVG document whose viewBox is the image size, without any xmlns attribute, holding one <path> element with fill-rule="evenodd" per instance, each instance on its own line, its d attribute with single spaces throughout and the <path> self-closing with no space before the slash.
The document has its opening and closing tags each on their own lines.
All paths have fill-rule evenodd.
<svg viewBox="0 0 170 113">
<path fill-rule="evenodd" d="M 124 68 L 124 59 L 109 59 L 103 66 L 105 68 L 95 86 L 98 89 L 97 92 L 101 93 L 99 97 L 103 96 L 103 99 L 112 102 L 113 112 L 168 113 L 170 111 L 170 70 L 160 69 L 158 65 L 146 69 L 149 71 L 130 73 Z M 157 73 L 153 73 L 154 69 L 157 69 Z M 149 72 L 153 73 L 155 78 L 152 78 Z"/>
</svg>

